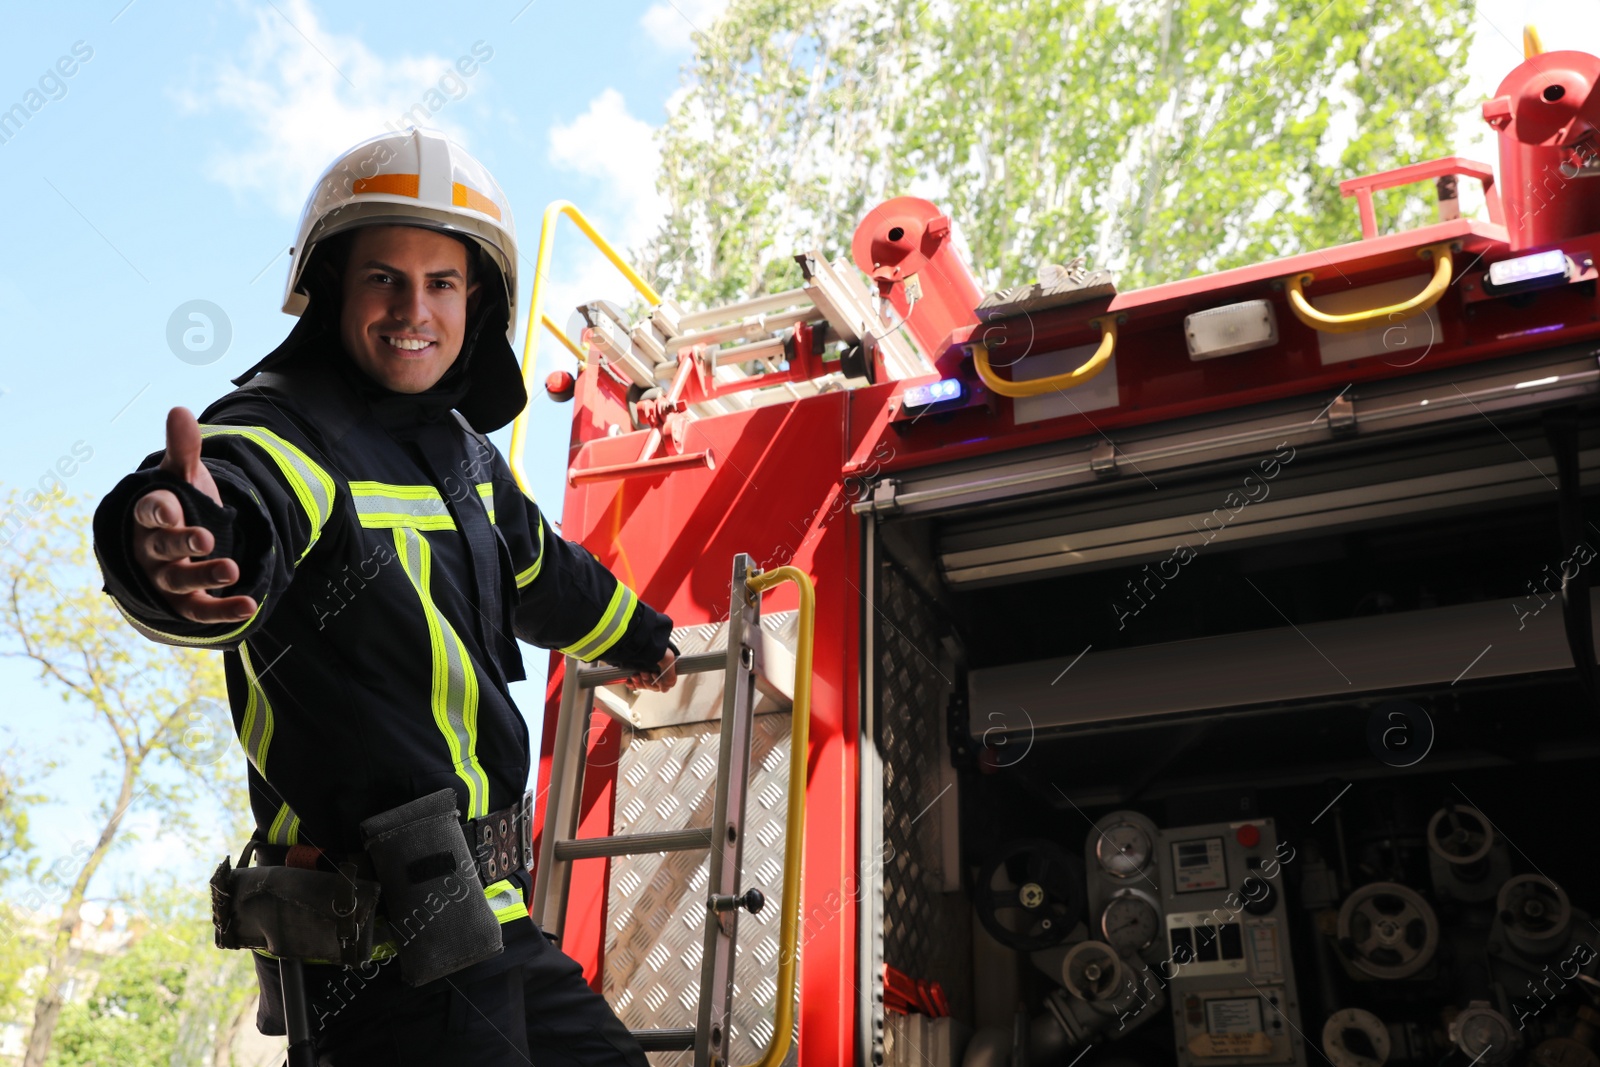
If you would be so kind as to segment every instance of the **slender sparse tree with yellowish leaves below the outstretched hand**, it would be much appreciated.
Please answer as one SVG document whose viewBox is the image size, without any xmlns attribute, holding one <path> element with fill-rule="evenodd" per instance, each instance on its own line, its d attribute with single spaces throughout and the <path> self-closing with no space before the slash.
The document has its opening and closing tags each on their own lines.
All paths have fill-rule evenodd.
<svg viewBox="0 0 1600 1067">
<path fill-rule="evenodd" d="M 34 910 L 59 909 L 22 1061 L 43 1067 L 66 1005 L 64 984 L 83 955 L 74 936 L 80 909 L 118 835 L 128 837 L 128 814 L 155 811 L 165 830 L 192 835 L 202 798 L 208 809 L 230 809 L 240 787 L 235 760 L 224 758 L 232 725 L 221 662 L 154 645 L 120 617 L 99 592 L 86 509 L 62 498 L 21 509 L 11 498 L 0 514 L 29 515 L 8 530 L 0 553 L 0 651 L 37 665 L 45 688 L 98 728 L 114 784 L 99 797 L 99 832 L 58 857 L 21 901 Z"/>
</svg>

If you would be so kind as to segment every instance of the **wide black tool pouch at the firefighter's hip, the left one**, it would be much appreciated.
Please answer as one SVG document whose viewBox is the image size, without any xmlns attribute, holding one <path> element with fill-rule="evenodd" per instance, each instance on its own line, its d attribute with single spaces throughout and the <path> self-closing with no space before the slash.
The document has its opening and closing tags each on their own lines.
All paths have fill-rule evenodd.
<svg viewBox="0 0 1600 1067">
<path fill-rule="evenodd" d="M 264 949 L 282 960 L 357 966 L 373 955 L 379 886 L 338 872 L 251 867 L 256 843 L 238 867 L 227 859 L 211 875 L 211 925 L 218 949 Z"/>
</svg>

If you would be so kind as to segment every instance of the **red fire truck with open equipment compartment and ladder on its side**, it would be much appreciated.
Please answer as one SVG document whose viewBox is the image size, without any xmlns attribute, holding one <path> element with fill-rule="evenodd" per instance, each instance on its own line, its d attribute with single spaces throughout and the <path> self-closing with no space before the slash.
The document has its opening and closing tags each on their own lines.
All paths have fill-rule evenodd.
<svg viewBox="0 0 1600 1067">
<path fill-rule="evenodd" d="M 686 312 L 552 205 L 646 309 L 534 290 L 563 533 L 685 678 L 552 662 L 533 910 L 654 1062 L 1600 1065 L 1600 59 L 1528 51 L 1498 174 L 1130 293 L 901 197 Z"/>
</svg>

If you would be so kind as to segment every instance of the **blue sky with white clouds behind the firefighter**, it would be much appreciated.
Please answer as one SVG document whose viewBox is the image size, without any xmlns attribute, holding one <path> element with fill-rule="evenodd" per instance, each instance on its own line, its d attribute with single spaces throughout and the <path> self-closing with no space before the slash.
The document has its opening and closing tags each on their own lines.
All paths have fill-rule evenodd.
<svg viewBox="0 0 1600 1067">
<path fill-rule="evenodd" d="M 10 5 L 0 112 L 37 110 L 21 128 L 0 126 L 0 486 L 37 485 L 86 446 L 93 459 L 67 488 L 96 499 L 160 445 L 166 408 L 198 411 L 226 392 L 291 325 L 278 310 L 285 251 L 314 178 L 419 104 L 440 102 L 429 123 L 494 173 L 530 253 L 554 198 L 576 202 L 619 245 L 645 242 L 662 213 L 651 133 L 680 86 L 691 26 L 709 26 L 723 3 L 104 0 L 29 5 L 26 16 Z M 1549 48 L 1600 48 L 1594 0 L 1480 3 L 1466 155 L 1494 158 L 1475 102 L 1520 61 L 1525 18 Z M 485 51 L 472 77 L 451 77 L 458 58 Z M 525 270 L 523 302 L 530 286 Z M 563 229 L 552 317 L 624 294 Z M 227 318 L 230 342 L 214 362 L 168 347 L 168 322 L 189 301 Z M 539 362 L 541 374 L 571 365 L 550 342 Z M 568 411 L 534 398 L 525 458 L 538 499 L 557 514 Z M 518 699 L 538 736 L 544 656 L 528 665 L 538 678 Z M 35 821 L 50 862 L 93 829 L 85 797 L 96 792 L 101 742 L 16 662 L 0 661 L 0 731 L 62 760 L 42 784 L 61 801 Z M 141 869 L 198 877 L 221 848 L 149 843 L 138 859 L 118 857 L 96 893 Z"/>
</svg>

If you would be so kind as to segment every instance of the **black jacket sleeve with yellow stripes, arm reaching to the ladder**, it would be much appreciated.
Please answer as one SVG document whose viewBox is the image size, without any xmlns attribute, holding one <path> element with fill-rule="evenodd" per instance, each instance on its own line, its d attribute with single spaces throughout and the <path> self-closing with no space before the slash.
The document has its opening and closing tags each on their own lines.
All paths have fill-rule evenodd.
<svg viewBox="0 0 1600 1067">
<path fill-rule="evenodd" d="M 586 662 L 654 670 L 670 648 L 672 619 L 642 601 L 587 549 L 563 541 L 498 454 L 493 493 L 517 577 L 517 637 Z"/>
</svg>

